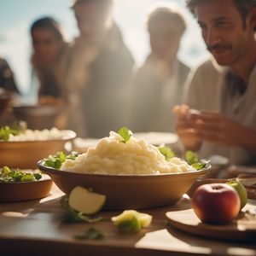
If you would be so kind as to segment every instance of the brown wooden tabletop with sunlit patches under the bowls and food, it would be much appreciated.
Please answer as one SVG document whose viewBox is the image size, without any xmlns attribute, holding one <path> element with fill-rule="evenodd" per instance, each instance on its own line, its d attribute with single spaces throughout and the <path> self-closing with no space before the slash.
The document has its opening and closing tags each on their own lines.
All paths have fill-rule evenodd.
<svg viewBox="0 0 256 256">
<path fill-rule="evenodd" d="M 256 255 L 255 243 L 238 243 L 192 236 L 166 226 L 166 212 L 175 206 L 143 210 L 153 222 L 134 235 L 121 235 L 110 218 L 119 212 L 101 212 L 105 221 L 95 224 L 63 224 L 61 191 L 55 187 L 43 200 L 0 204 L 0 255 Z M 101 241 L 75 240 L 90 227 L 102 230 Z"/>
</svg>

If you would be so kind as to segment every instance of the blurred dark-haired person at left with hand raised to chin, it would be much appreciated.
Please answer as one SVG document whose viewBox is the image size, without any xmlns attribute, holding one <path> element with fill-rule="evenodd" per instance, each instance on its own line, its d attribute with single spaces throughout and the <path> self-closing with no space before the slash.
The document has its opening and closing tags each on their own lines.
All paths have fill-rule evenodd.
<svg viewBox="0 0 256 256">
<path fill-rule="evenodd" d="M 68 45 L 65 42 L 61 25 L 51 17 L 33 22 L 32 67 L 39 81 L 39 102 L 55 103 L 66 97 L 63 73 Z"/>
</svg>

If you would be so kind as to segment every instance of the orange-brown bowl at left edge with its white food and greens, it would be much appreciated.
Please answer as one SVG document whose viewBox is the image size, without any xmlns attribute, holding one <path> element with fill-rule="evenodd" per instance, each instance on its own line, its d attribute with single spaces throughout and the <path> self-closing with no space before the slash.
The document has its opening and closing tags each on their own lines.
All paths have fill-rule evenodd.
<svg viewBox="0 0 256 256">
<path fill-rule="evenodd" d="M 0 167 L 37 168 L 38 160 L 64 150 L 65 144 L 75 137 L 74 131 L 57 128 L 17 131 L 0 127 Z"/>
</svg>

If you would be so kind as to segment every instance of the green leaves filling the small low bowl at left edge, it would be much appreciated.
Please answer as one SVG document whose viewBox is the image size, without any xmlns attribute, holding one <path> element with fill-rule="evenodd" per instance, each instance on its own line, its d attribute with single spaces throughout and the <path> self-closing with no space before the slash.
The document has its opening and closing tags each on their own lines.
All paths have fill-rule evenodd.
<svg viewBox="0 0 256 256">
<path fill-rule="evenodd" d="M 40 173 L 23 172 L 19 169 L 11 169 L 8 166 L 4 166 L 0 172 L 0 182 L 30 182 L 37 181 L 42 178 Z"/>
</svg>

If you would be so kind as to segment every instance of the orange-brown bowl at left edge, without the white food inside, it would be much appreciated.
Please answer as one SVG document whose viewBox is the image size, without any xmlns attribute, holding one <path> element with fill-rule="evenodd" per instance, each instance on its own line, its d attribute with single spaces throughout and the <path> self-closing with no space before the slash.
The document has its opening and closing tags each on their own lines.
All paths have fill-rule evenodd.
<svg viewBox="0 0 256 256">
<path fill-rule="evenodd" d="M 61 139 L 0 142 L 0 167 L 34 169 L 37 167 L 38 160 L 64 150 L 65 144 L 75 137 L 74 131 L 67 131 L 67 134 Z"/>
</svg>

